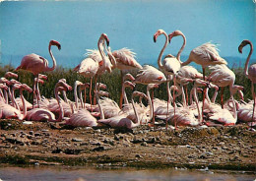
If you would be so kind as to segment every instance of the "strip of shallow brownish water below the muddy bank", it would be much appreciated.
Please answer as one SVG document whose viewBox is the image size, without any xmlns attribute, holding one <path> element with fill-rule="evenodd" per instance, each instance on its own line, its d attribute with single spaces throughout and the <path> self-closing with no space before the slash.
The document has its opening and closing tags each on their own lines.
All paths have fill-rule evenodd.
<svg viewBox="0 0 256 181">
<path fill-rule="evenodd" d="M 6 180 L 77 180 L 86 181 L 127 180 L 195 180 L 195 181 L 252 181 L 255 172 L 224 170 L 187 170 L 187 169 L 96 169 L 87 167 L 0 167 L 0 181 Z"/>
</svg>

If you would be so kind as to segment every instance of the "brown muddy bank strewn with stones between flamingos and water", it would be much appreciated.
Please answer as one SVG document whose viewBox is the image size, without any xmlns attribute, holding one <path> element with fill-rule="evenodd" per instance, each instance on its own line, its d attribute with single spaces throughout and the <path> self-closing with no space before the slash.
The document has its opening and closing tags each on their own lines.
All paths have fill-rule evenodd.
<svg viewBox="0 0 256 181">
<path fill-rule="evenodd" d="M 0 163 L 187 167 L 256 171 L 256 132 L 245 125 L 132 132 L 0 121 Z"/>
</svg>

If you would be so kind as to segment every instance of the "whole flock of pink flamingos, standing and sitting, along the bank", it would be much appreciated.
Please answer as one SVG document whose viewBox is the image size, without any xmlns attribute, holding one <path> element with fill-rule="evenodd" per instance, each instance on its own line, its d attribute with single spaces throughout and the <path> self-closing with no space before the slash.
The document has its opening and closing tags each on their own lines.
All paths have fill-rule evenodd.
<svg viewBox="0 0 256 181">
<path fill-rule="evenodd" d="M 97 49 L 88 49 L 87 57 L 73 69 L 77 74 L 90 78 L 90 83 L 76 81 L 74 87 L 71 87 L 63 78 L 55 85 L 54 97 L 46 98 L 40 94 L 38 84 L 47 81 L 47 76 L 43 73 L 56 68 L 57 63 L 51 47 L 56 46 L 59 50 L 61 49 L 58 41 L 50 40 L 48 51 L 52 58 L 52 67 L 48 66 L 45 58 L 32 53 L 26 55 L 21 65 L 15 69 L 16 72 L 21 69 L 32 72 L 34 76 L 32 89 L 18 82 L 16 73 L 7 72 L 4 77 L 0 78 L 0 118 L 19 119 L 27 123 L 31 121 L 30 124 L 33 121 L 48 121 L 74 127 L 109 126 L 127 129 L 140 125 L 156 126 L 157 120 L 163 120 L 166 129 L 169 127 L 168 124 L 172 128 L 230 126 L 237 122 L 255 125 L 256 64 L 248 68 L 253 51 L 250 40 L 243 40 L 238 46 L 238 51 L 242 53 L 243 47 L 250 45 L 244 74 L 251 81 L 253 100 L 245 102 L 243 87 L 235 85 L 235 74 L 227 67 L 226 61 L 220 56 L 215 44 L 206 42 L 192 49 L 188 60 L 182 62 L 180 56 L 186 46 L 185 35 L 180 30 L 174 30 L 169 34 L 164 30 L 157 30 L 153 36 L 156 43 L 161 34 L 164 35 L 165 42 L 157 61 L 159 69 L 151 65 L 141 66 L 136 60 L 135 53 L 128 48 L 111 51 L 108 36 L 106 33 L 100 34 Z M 165 48 L 171 45 L 171 39 L 179 35 L 183 37 L 183 44 L 177 55 L 173 56 L 169 53 L 162 57 Z M 189 66 L 191 62 L 201 65 L 203 74 Z M 209 75 L 206 75 L 206 68 L 210 70 Z M 100 76 L 106 72 L 111 74 L 113 69 L 119 69 L 121 73 L 122 89 L 119 102 L 108 97 L 106 85 L 99 82 Z M 130 70 L 138 70 L 137 75 L 133 76 L 128 73 Z M 158 89 L 162 83 L 166 83 L 167 100 L 154 97 L 154 90 Z M 94 100 L 93 84 L 95 84 Z M 136 85 L 139 84 L 146 85 L 147 91 L 135 91 Z M 187 90 L 189 84 L 192 85 L 190 92 Z M 225 87 L 228 87 L 230 92 L 230 97 L 226 102 L 223 97 Z M 220 88 L 221 105 L 215 102 Z M 87 89 L 90 89 L 90 102 L 86 102 Z M 130 99 L 126 94 L 127 89 L 133 91 Z M 215 90 L 213 97 L 210 97 L 208 93 L 210 89 Z M 74 101 L 66 96 L 67 91 L 73 90 Z M 15 91 L 20 92 L 19 97 L 15 96 Z M 25 99 L 24 91 L 32 92 L 32 103 Z M 240 96 L 239 100 L 233 97 L 236 92 Z M 198 93 L 203 93 L 201 101 Z M 189 94 L 190 101 L 188 101 Z M 178 96 L 182 97 L 181 102 L 177 101 Z M 135 99 L 139 101 L 135 102 Z"/>
</svg>

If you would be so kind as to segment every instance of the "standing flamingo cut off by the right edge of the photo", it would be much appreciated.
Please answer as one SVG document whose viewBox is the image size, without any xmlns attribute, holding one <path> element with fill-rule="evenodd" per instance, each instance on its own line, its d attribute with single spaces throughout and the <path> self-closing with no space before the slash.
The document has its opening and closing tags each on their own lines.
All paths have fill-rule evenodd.
<svg viewBox="0 0 256 181">
<path fill-rule="evenodd" d="M 242 53 L 243 47 L 246 46 L 247 44 L 250 45 L 250 52 L 249 52 L 249 54 L 247 56 L 247 59 L 246 59 L 246 62 L 245 62 L 244 74 L 251 81 L 251 93 L 252 93 L 252 97 L 253 97 L 252 120 L 254 120 L 254 112 L 255 112 L 255 104 L 256 104 L 255 92 L 254 92 L 254 84 L 256 84 L 256 64 L 252 64 L 248 68 L 248 64 L 249 64 L 251 54 L 252 54 L 252 51 L 253 51 L 252 42 L 248 39 L 244 39 L 240 43 L 240 45 L 238 46 L 238 51 L 240 53 Z"/>
</svg>

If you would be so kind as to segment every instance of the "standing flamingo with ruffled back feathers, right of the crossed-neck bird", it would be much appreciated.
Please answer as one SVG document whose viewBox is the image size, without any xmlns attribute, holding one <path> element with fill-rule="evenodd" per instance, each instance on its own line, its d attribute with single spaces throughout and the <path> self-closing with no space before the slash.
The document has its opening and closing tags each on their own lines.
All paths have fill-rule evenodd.
<svg viewBox="0 0 256 181">
<path fill-rule="evenodd" d="M 135 59 L 135 53 L 132 52 L 130 49 L 128 48 L 122 48 L 119 50 L 115 50 L 113 52 L 111 52 L 110 47 L 109 47 L 109 53 L 113 55 L 115 60 L 115 67 L 120 70 L 121 72 L 121 85 L 123 85 L 123 82 L 125 80 L 124 78 L 124 71 L 125 70 L 134 70 L 134 69 L 142 69 L 142 66 L 137 62 L 137 60 Z M 109 57 L 111 58 L 111 56 Z M 123 101 L 123 91 L 121 91 L 120 94 L 120 100 L 119 100 L 119 107 L 122 107 L 122 101 Z"/>
</svg>

